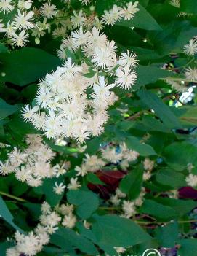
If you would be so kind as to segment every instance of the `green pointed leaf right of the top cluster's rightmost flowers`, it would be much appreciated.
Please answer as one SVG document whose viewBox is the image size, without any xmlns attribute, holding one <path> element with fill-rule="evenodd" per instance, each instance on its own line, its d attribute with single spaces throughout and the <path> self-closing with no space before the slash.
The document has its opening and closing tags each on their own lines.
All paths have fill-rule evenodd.
<svg viewBox="0 0 197 256">
<path fill-rule="evenodd" d="M 147 10 L 140 4 L 137 5 L 139 11 L 134 15 L 131 20 L 121 19 L 116 23 L 117 26 L 136 27 L 145 30 L 161 30 L 161 26 L 158 25 L 156 20 L 150 15 Z"/>
</svg>

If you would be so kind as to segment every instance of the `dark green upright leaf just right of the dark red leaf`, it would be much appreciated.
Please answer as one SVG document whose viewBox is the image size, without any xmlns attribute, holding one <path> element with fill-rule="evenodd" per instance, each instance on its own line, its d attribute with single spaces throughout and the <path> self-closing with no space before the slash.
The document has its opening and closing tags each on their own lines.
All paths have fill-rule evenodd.
<svg viewBox="0 0 197 256">
<path fill-rule="evenodd" d="M 129 195 L 129 199 L 135 199 L 140 194 L 142 187 L 142 168 L 134 168 L 127 174 L 120 182 L 120 189 L 122 192 Z"/>
</svg>

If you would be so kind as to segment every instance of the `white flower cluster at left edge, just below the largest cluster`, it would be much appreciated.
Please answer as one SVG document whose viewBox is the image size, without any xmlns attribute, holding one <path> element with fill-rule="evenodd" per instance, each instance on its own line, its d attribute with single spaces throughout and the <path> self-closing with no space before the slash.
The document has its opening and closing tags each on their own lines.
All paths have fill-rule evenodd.
<svg viewBox="0 0 197 256">
<path fill-rule="evenodd" d="M 51 165 L 55 153 L 44 144 L 41 136 L 29 134 L 26 137 L 28 147 L 20 151 L 15 147 L 7 154 L 8 159 L 0 162 L 0 174 L 14 173 L 15 177 L 31 187 L 38 187 L 44 178 L 59 177 L 65 173 L 64 166 Z"/>
</svg>

